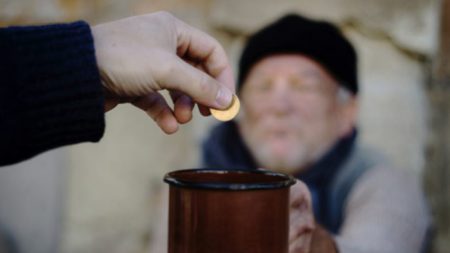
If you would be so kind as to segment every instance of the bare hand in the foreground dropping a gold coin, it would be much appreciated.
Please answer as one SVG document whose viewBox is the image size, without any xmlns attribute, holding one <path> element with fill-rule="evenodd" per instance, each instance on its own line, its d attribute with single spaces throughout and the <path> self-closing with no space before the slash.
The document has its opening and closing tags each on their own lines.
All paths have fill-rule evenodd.
<svg viewBox="0 0 450 253">
<path fill-rule="evenodd" d="M 223 48 L 209 35 L 166 12 L 136 16 L 92 28 L 105 89 L 105 111 L 130 102 L 166 133 L 192 118 L 194 103 L 224 109 L 234 93 Z M 167 89 L 172 110 L 158 92 Z"/>
</svg>

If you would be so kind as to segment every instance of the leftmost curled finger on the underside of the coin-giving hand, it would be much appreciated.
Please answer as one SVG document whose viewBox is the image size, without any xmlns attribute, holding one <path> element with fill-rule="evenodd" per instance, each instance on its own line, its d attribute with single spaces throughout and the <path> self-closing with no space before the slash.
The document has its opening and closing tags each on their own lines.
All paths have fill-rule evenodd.
<svg viewBox="0 0 450 253">
<path fill-rule="evenodd" d="M 151 93 L 134 100 L 132 104 L 145 111 L 166 134 L 178 130 L 177 119 L 161 94 Z"/>
</svg>

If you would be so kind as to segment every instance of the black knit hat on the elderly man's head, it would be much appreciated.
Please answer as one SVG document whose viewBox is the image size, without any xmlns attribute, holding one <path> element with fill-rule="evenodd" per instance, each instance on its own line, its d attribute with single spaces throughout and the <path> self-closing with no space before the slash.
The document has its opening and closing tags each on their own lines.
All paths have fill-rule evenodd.
<svg viewBox="0 0 450 253">
<path fill-rule="evenodd" d="M 356 52 L 332 24 L 287 15 L 251 36 L 239 61 L 238 90 L 251 67 L 279 53 L 299 53 L 320 63 L 353 94 L 358 93 Z"/>
</svg>

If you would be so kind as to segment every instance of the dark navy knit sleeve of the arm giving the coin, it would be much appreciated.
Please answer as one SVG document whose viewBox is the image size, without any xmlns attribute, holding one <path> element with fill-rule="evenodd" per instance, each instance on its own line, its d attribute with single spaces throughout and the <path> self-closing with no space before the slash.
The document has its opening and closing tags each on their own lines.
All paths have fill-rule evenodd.
<svg viewBox="0 0 450 253">
<path fill-rule="evenodd" d="M 103 95 L 85 22 L 0 29 L 0 165 L 104 132 Z"/>
</svg>

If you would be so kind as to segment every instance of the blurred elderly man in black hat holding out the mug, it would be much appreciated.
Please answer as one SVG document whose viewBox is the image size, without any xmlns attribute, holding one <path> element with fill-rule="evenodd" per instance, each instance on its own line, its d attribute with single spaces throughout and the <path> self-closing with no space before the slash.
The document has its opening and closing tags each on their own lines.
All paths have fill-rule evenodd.
<svg viewBox="0 0 450 253">
<path fill-rule="evenodd" d="M 291 252 L 331 243 L 322 252 L 412 253 L 425 245 L 429 216 L 418 180 L 358 143 L 356 65 L 333 25 L 283 17 L 249 39 L 239 63 L 242 114 L 203 145 L 207 167 L 262 167 L 306 183 L 300 194 L 311 194 L 315 224 L 291 215 L 303 226 L 291 230 Z"/>
</svg>

